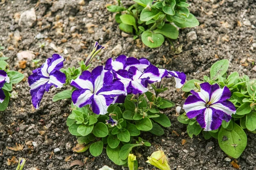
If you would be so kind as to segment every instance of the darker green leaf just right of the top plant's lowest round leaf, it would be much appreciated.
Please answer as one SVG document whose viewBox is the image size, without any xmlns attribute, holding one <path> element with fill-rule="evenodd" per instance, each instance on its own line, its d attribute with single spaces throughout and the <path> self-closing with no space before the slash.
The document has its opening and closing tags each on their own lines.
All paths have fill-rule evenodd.
<svg viewBox="0 0 256 170">
<path fill-rule="evenodd" d="M 177 39 L 179 36 L 179 31 L 175 26 L 172 24 L 165 24 L 161 29 L 154 30 L 155 33 L 163 34 L 164 36 L 171 38 L 171 39 Z"/>
</svg>

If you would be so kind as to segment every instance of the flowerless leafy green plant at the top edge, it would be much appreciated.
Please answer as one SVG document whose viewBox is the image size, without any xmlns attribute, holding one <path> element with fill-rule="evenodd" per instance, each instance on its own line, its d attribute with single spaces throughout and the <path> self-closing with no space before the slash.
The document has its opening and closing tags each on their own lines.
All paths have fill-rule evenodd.
<svg viewBox="0 0 256 170">
<path fill-rule="evenodd" d="M 116 12 L 119 28 L 134 34 L 134 39 L 141 36 L 142 42 L 156 48 L 163 44 L 164 37 L 177 39 L 179 28 L 192 28 L 199 25 L 195 16 L 189 13 L 186 0 L 134 0 L 135 4 L 125 8 L 108 6 L 108 11 Z"/>
</svg>

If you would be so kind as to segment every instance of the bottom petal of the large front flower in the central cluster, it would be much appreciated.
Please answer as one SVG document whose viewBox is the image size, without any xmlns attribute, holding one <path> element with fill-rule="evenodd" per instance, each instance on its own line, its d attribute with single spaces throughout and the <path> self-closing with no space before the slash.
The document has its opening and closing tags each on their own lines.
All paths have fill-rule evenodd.
<svg viewBox="0 0 256 170">
<path fill-rule="evenodd" d="M 108 106 L 113 102 L 113 98 L 104 95 L 93 95 L 92 110 L 93 113 L 104 115 L 108 113 Z"/>
</svg>

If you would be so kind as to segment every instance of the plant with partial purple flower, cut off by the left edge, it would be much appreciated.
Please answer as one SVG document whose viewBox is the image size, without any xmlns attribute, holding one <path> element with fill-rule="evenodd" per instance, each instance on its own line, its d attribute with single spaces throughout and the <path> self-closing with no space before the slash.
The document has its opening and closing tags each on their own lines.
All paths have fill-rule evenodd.
<svg viewBox="0 0 256 170">
<path fill-rule="evenodd" d="M 4 60 L 0 60 L 0 111 L 6 110 L 12 85 L 17 84 L 24 78 L 18 71 L 9 70 L 9 65 Z"/>
</svg>

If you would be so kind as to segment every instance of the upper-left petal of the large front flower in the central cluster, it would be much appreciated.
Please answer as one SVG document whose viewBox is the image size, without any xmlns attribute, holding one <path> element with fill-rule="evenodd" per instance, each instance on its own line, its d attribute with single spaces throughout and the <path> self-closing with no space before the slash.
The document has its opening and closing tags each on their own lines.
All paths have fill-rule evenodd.
<svg viewBox="0 0 256 170">
<path fill-rule="evenodd" d="M 78 89 L 90 89 L 93 92 L 93 80 L 90 71 L 83 71 L 81 76 L 71 80 L 70 85 Z"/>
</svg>

